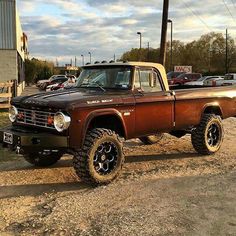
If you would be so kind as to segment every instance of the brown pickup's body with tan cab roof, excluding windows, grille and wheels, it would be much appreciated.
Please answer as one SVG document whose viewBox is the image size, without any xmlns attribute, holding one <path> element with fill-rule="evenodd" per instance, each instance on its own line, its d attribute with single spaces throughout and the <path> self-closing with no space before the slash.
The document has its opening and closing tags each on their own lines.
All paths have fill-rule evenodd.
<svg viewBox="0 0 236 236">
<path fill-rule="evenodd" d="M 118 65 L 132 68 L 130 89 L 102 91 L 73 88 L 18 97 L 12 101 L 15 107 L 29 112 L 66 112 L 71 117 L 68 130 L 59 134 L 53 127 L 47 129 L 27 122 L 19 124 L 16 121 L 13 123 L 13 128 L 10 128 L 13 131 L 9 132 L 17 129 L 17 135 L 20 136 L 19 132 L 22 129 L 22 133 L 27 132 L 27 135 L 32 137 L 37 137 L 41 133 L 55 135 L 55 138 L 64 137 L 62 146 L 67 152 L 67 150 L 80 149 L 87 131 L 92 128 L 108 128 L 125 139 L 132 139 L 157 132 L 187 132 L 200 123 L 204 113 L 214 113 L 222 119 L 236 117 L 236 86 L 171 91 L 165 70 L 159 64 L 137 62 L 104 64 L 96 67 Z M 92 67 L 94 65 L 85 66 L 84 70 Z M 144 92 L 135 88 L 134 71 L 137 68 L 154 70 L 159 75 L 162 91 Z M 42 147 L 40 143 L 32 143 L 31 146 L 49 149 L 56 148 L 57 144 L 52 147 L 47 145 Z"/>
</svg>

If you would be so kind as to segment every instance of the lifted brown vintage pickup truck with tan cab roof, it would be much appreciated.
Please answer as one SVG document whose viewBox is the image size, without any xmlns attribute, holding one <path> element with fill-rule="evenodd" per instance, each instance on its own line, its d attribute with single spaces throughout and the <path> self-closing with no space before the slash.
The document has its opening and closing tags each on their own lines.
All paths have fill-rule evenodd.
<svg viewBox="0 0 236 236">
<path fill-rule="evenodd" d="M 124 163 L 122 140 L 191 133 L 195 150 L 210 155 L 223 141 L 221 120 L 235 116 L 235 86 L 171 91 L 159 64 L 95 64 L 75 88 L 13 99 L 0 142 L 36 166 L 72 154 L 82 180 L 107 184 Z"/>
</svg>

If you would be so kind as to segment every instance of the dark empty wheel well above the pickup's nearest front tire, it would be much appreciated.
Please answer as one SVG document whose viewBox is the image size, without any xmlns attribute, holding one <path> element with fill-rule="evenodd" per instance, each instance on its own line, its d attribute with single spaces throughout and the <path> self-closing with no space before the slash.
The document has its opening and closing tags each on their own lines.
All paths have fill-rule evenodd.
<svg viewBox="0 0 236 236">
<path fill-rule="evenodd" d="M 115 131 L 120 137 L 126 137 L 124 126 L 120 118 L 116 115 L 102 115 L 91 120 L 88 130 L 95 128 L 105 128 Z"/>
</svg>

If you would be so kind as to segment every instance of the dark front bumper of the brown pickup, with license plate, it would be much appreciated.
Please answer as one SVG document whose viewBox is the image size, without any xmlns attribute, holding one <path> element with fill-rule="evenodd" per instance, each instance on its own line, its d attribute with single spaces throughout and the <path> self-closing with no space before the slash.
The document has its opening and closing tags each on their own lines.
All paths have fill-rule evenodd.
<svg viewBox="0 0 236 236">
<path fill-rule="evenodd" d="M 50 133 L 34 133 L 29 130 L 7 127 L 0 130 L 0 143 L 3 147 L 21 152 L 67 150 L 68 137 Z"/>
</svg>

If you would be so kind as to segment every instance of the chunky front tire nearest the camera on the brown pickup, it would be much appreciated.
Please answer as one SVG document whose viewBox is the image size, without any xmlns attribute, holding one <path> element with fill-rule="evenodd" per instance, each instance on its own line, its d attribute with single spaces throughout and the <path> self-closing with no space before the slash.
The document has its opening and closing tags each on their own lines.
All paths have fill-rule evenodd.
<svg viewBox="0 0 236 236">
<path fill-rule="evenodd" d="M 117 155 L 114 155 L 116 162 L 114 162 L 113 170 L 102 175 L 96 170 L 94 163 L 98 159 L 99 148 L 106 143 L 112 145 Z M 106 156 L 106 154 L 101 155 Z M 108 184 L 119 176 L 124 164 L 123 143 L 119 136 L 111 130 L 97 128 L 88 131 L 83 147 L 74 153 L 73 164 L 76 174 L 82 181 L 95 185 Z"/>
</svg>

